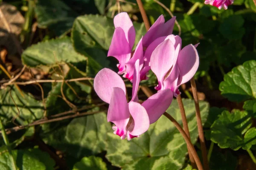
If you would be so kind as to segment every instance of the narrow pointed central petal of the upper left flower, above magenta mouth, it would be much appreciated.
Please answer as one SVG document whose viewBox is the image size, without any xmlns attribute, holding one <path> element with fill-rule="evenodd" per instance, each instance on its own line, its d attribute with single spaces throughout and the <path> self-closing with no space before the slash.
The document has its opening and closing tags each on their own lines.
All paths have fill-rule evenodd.
<svg viewBox="0 0 256 170">
<path fill-rule="evenodd" d="M 134 65 L 135 62 L 139 59 L 140 61 L 140 68 L 143 67 L 143 46 L 142 46 L 142 39 L 140 39 L 135 51 L 134 55 L 131 57 L 131 59 L 126 63 L 126 74 L 123 76 L 130 81 L 133 80 L 133 74 L 134 74 Z"/>
</svg>

